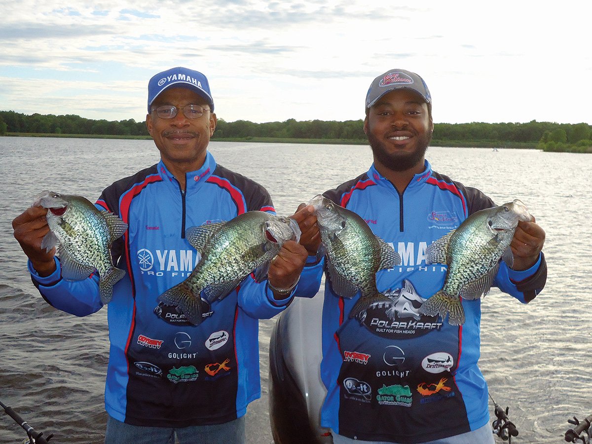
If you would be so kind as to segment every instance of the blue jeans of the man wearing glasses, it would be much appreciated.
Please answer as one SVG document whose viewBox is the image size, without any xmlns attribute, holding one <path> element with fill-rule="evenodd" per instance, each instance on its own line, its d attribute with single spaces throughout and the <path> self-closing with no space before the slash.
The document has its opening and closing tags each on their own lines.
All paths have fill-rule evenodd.
<svg viewBox="0 0 592 444">
<path fill-rule="evenodd" d="M 176 440 L 175 440 L 176 439 Z M 224 424 L 189 427 L 144 427 L 107 419 L 105 444 L 244 444 L 244 416 Z"/>
</svg>

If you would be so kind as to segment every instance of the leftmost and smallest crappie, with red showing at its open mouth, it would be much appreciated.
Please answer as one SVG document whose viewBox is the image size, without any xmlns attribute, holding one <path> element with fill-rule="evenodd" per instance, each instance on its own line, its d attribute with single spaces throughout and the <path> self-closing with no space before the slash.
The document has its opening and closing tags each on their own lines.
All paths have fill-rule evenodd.
<svg viewBox="0 0 592 444">
<path fill-rule="evenodd" d="M 47 208 L 50 232 L 41 241 L 48 252 L 56 247 L 62 277 L 81 281 L 96 271 L 99 274 L 101 302 L 113 297 L 113 285 L 126 275 L 115 268 L 110 247 L 123 236 L 127 224 L 115 214 L 99 211 L 82 196 L 44 190 L 35 197 L 33 206 Z"/>
</svg>

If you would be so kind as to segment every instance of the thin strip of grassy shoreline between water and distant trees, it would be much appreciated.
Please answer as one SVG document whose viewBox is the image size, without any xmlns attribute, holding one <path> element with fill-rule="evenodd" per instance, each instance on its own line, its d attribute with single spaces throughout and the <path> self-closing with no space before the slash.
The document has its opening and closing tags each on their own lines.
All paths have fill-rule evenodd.
<svg viewBox="0 0 592 444">
<path fill-rule="evenodd" d="M 52 134 L 52 133 L 6 133 L 7 137 L 65 137 L 67 139 L 127 139 L 152 140 L 150 136 L 115 136 L 112 134 Z M 363 145 L 368 146 L 367 140 L 350 139 L 282 139 L 281 137 L 213 137 L 214 142 L 254 142 L 254 143 L 307 143 L 330 145 Z M 488 141 L 467 140 L 432 140 L 430 146 L 449 146 L 464 148 L 504 148 L 504 149 L 537 149 L 535 143 L 507 142 L 494 143 Z"/>
</svg>

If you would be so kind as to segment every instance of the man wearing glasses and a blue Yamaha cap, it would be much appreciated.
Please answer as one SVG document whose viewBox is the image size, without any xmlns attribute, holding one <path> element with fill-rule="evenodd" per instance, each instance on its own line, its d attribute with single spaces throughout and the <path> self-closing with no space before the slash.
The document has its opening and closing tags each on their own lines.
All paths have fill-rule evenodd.
<svg viewBox="0 0 592 444">
<path fill-rule="evenodd" d="M 216 115 L 202 73 L 184 67 L 158 73 L 147 105 L 146 126 L 160 162 L 108 186 L 96 202 L 128 224 L 112 246 L 126 276 L 115 284 L 108 308 L 105 442 L 243 443 L 247 404 L 260 397 L 258 318 L 271 318 L 292 301 L 307 252 L 288 241 L 268 280 L 247 276 L 197 325 L 159 304 L 157 297 L 184 281 L 199 260 L 186 229 L 275 210 L 262 186 L 218 165 L 208 152 Z M 41 250 L 46 211 L 31 207 L 13 222 L 33 281 L 54 307 L 95 313 L 102 307 L 96 275 L 66 281 L 53 251 Z M 295 218 L 313 219 L 303 212 Z"/>
</svg>

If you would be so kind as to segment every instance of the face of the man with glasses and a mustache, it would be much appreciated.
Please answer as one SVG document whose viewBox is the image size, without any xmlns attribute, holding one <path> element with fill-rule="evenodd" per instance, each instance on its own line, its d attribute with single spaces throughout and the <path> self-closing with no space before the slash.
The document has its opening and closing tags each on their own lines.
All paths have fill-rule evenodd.
<svg viewBox="0 0 592 444">
<path fill-rule="evenodd" d="M 187 88 L 169 88 L 152 103 L 151 109 L 173 105 L 178 112 L 172 119 L 157 117 L 156 112 L 146 115 L 146 127 L 160 151 L 167 168 L 184 172 L 200 169 L 204 164 L 206 149 L 216 127 L 216 115 L 204 111 L 197 119 L 183 114 L 186 105 L 202 105 L 210 108 L 204 98 Z"/>
</svg>

